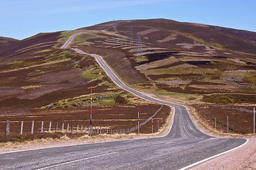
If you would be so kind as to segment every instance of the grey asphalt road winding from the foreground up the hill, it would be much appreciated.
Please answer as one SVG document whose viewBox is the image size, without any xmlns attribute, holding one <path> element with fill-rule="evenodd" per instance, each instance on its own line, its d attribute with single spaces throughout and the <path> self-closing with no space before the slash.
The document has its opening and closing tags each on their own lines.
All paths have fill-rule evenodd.
<svg viewBox="0 0 256 170">
<path fill-rule="evenodd" d="M 73 38 L 70 42 L 72 40 Z M 85 54 L 81 50 L 74 50 Z M 0 154 L 0 169 L 188 169 L 247 142 L 245 139 L 216 138 L 204 134 L 196 128 L 184 106 L 151 98 L 129 88 L 100 56 L 90 55 L 126 91 L 146 100 L 174 107 L 174 123 L 169 132 L 164 137 L 141 140 Z"/>
</svg>

